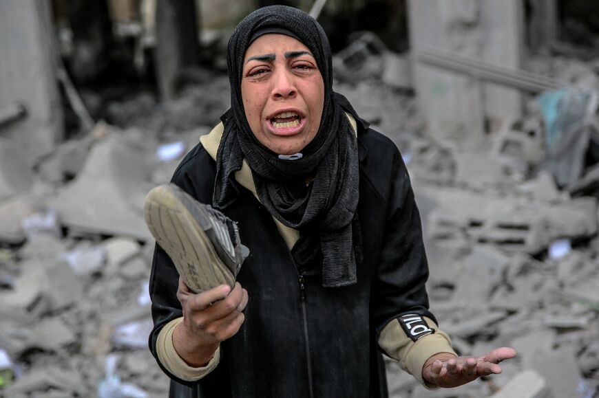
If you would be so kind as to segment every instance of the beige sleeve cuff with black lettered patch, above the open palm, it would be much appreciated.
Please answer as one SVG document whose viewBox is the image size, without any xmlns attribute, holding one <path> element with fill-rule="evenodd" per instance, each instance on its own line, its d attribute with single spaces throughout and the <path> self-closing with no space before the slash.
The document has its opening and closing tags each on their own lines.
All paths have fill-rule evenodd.
<svg viewBox="0 0 599 398">
<path fill-rule="evenodd" d="M 414 376 L 420 384 L 430 390 L 437 389 L 422 378 L 422 368 L 428 358 L 439 353 L 457 354 L 452 349 L 451 339 L 447 333 L 439 330 L 430 318 L 423 317 L 434 333 L 424 335 L 416 342 L 406 335 L 399 321 L 390 321 L 379 335 L 379 347 L 394 360 L 399 362 L 401 368 Z"/>
</svg>

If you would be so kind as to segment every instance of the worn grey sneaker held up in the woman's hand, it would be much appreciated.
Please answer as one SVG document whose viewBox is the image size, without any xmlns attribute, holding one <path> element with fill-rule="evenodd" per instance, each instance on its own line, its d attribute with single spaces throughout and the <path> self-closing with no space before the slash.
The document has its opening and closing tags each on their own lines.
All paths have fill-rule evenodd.
<svg viewBox="0 0 599 398">
<path fill-rule="evenodd" d="M 148 193 L 144 217 L 156 243 L 191 291 L 200 293 L 224 283 L 233 289 L 249 255 L 240 243 L 237 223 L 175 184 L 157 186 Z"/>
</svg>

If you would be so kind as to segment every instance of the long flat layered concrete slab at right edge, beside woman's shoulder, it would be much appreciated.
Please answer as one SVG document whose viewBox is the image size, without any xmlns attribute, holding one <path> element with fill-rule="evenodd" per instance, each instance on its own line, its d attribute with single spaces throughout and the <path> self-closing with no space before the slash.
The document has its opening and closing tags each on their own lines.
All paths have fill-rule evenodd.
<svg viewBox="0 0 599 398">
<path fill-rule="evenodd" d="M 562 203 L 531 201 L 501 192 L 437 188 L 443 197 L 430 214 L 429 239 L 452 241 L 466 236 L 505 250 L 538 253 L 556 239 L 593 236 L 597 231 L 596 199 Z"/>
</svg>

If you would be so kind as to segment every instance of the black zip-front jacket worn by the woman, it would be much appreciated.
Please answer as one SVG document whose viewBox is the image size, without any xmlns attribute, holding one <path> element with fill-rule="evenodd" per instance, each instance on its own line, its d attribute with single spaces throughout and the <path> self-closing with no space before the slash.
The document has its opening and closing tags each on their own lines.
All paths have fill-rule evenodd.
<svg viewBox="0 0 599 398">
<path fill-rule="evenodd" d="M 245 322 L 221 344 L 220 364 L 204 379 L 189 383 L 169 375 L 171 397 L 387 397 L 378 333 L 408 311 L 434 317 L 406 166 L 395 144 L 380 133 L 359 131 L 358 142 L 364 261 L 357 284 L 324 288 L 321 276 L 300 276 L 271 214 L 240 187 L 240 197 L 224 213 L 238 221 L 242 243 L 251 251 L 238 275 L 249 294 Z M 215 173 L 215 162 L 198 144 L 173 182 L 211 203 Z M 174 265 L 157 247 L 150 280 L 154 356 L 161 327 L 182 316 L 177 285 Z"/>
</svg>

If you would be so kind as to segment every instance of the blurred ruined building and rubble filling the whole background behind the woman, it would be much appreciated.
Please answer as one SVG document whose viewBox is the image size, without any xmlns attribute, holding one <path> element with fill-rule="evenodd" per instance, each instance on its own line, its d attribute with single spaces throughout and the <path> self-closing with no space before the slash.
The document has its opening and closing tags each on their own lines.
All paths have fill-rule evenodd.
<svg viewBox="0 0 599 398">
<path fill-rule="evenodd" d="M 592 0 L 0 1 L 0 396 L 167 396 L 143 201 L 229 107 L 231 29 L 271 3 L 315 12 L 335 89 L 400 148 L 454 349 L 518 351 L 436 391 L 388 360 L 390 397 L 599 397 Z"/>
</svg>

